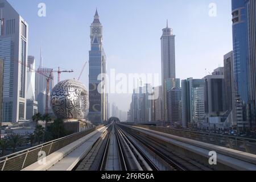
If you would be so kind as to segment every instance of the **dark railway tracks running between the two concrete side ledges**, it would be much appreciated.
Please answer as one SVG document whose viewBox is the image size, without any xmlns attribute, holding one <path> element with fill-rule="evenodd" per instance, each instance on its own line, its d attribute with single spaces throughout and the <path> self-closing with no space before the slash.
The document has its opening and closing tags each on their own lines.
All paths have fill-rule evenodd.
<svg viewBox="0 0 256 182">
<path fill-rule="evenodd" d="M 209 168 L 183 158 L 158 141 L 112 123 L 94 143 L 77 171 L 201 171 Z"/>
</svg>

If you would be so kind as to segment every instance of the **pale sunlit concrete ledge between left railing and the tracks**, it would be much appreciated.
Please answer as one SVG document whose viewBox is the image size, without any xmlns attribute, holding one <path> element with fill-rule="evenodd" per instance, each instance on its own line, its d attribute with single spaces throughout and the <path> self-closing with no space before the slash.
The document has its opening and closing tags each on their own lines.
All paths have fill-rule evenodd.
<svg viewBox="0 0 256 182">
<path fill-rule="evenodd" d="M 101 127 L 96 131 L 68 144 L 60 150 L 46 156 L 45 163 L 34 163 L 22 171 L 71 171 L 73 167 L 87 154 L 93 144 L 101 137 L 110 125 Z M 44 159 L 42 159 L 43 161 Z"/>
</svg>

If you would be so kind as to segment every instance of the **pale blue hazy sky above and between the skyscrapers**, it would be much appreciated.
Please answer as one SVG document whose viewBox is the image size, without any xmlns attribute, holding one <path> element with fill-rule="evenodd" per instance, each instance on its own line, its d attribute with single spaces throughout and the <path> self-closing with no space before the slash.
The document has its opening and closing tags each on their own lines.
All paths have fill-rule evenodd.
<svg viewBox="0 0 256 182">
<path fill-rule="evenodd" d="M 29 24 L 28 54 L 39 65 L 73 69 L 61 79 L 77 78 L 89 59 L 89 26 L 96 7 L 104 26 L 107 67 L 117 73 L 161 74 L 160 36 L 166 27 L 176 35 L 176 76 L 202 78 L 223 65 L 232 51 L 231 0 L 9 0 Z M 38 16 L 38 4 L 46 3 L 47 16 Z M 216 3 L 217 16 L 209 16 Z M 88 65 L 81 81 L 88 86 Z M 57 80 L 57 76 L 56 80 Z M 110 95 L 119 109 L 128 110 L 129 94 Z"/>
</svg>

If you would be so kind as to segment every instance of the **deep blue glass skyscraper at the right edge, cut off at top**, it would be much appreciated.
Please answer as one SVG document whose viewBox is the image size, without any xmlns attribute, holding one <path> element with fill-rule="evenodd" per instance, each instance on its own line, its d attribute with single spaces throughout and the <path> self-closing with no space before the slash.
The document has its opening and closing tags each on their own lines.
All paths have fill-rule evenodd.
<svg viewBox="0 0 256 182">
<path fill-rule="evenodd" d="M 237 126 L 241 130 L 256 127 L 256 23 L 254 0 L 232 0 L 234 82 L 237 108 Z M 242 119 L 241 119 L 242 118 Z"/>
</svg>

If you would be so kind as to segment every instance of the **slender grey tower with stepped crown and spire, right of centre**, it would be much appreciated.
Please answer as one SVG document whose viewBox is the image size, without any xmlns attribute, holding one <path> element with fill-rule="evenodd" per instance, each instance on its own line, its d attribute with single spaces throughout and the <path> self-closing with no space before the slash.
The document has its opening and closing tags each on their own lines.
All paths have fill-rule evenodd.
<svg viewBox="0 0 256 182">
<path fill-rule="evenodd" d="M 161 37 L 161 51 L 162 51 L 162 85 L 164 96 L 164 119 L 167 121 L 167 78 L 175 78 L 175 35 L 172 28 L 167 26 L 163 29 Z"/>
</svg>

